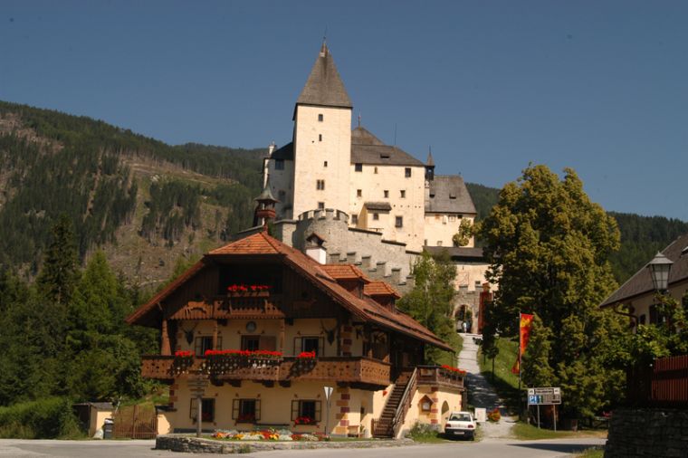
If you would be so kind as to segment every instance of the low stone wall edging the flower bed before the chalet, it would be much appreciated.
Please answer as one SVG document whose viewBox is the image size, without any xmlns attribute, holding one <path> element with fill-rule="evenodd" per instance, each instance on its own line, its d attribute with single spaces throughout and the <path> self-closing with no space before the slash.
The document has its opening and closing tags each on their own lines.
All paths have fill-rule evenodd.
<svg viewBox="0 0 688 458">
<path fill-rule="evenodd" d="M 272 441 L 215 441 L 188 435 L 167 434 L 156 438 L 157 450 L 186 453 L 248 453 L 267 450 L 312 450 L 319 448 L 377 448 L 415 444 L 411 439 L 342 441 L 342 442 L 272 442 Z M 248 448 L 248 449 L 247 449 Z M 240 451 L 241 450 L 241 451 Z"/>
</svg>

